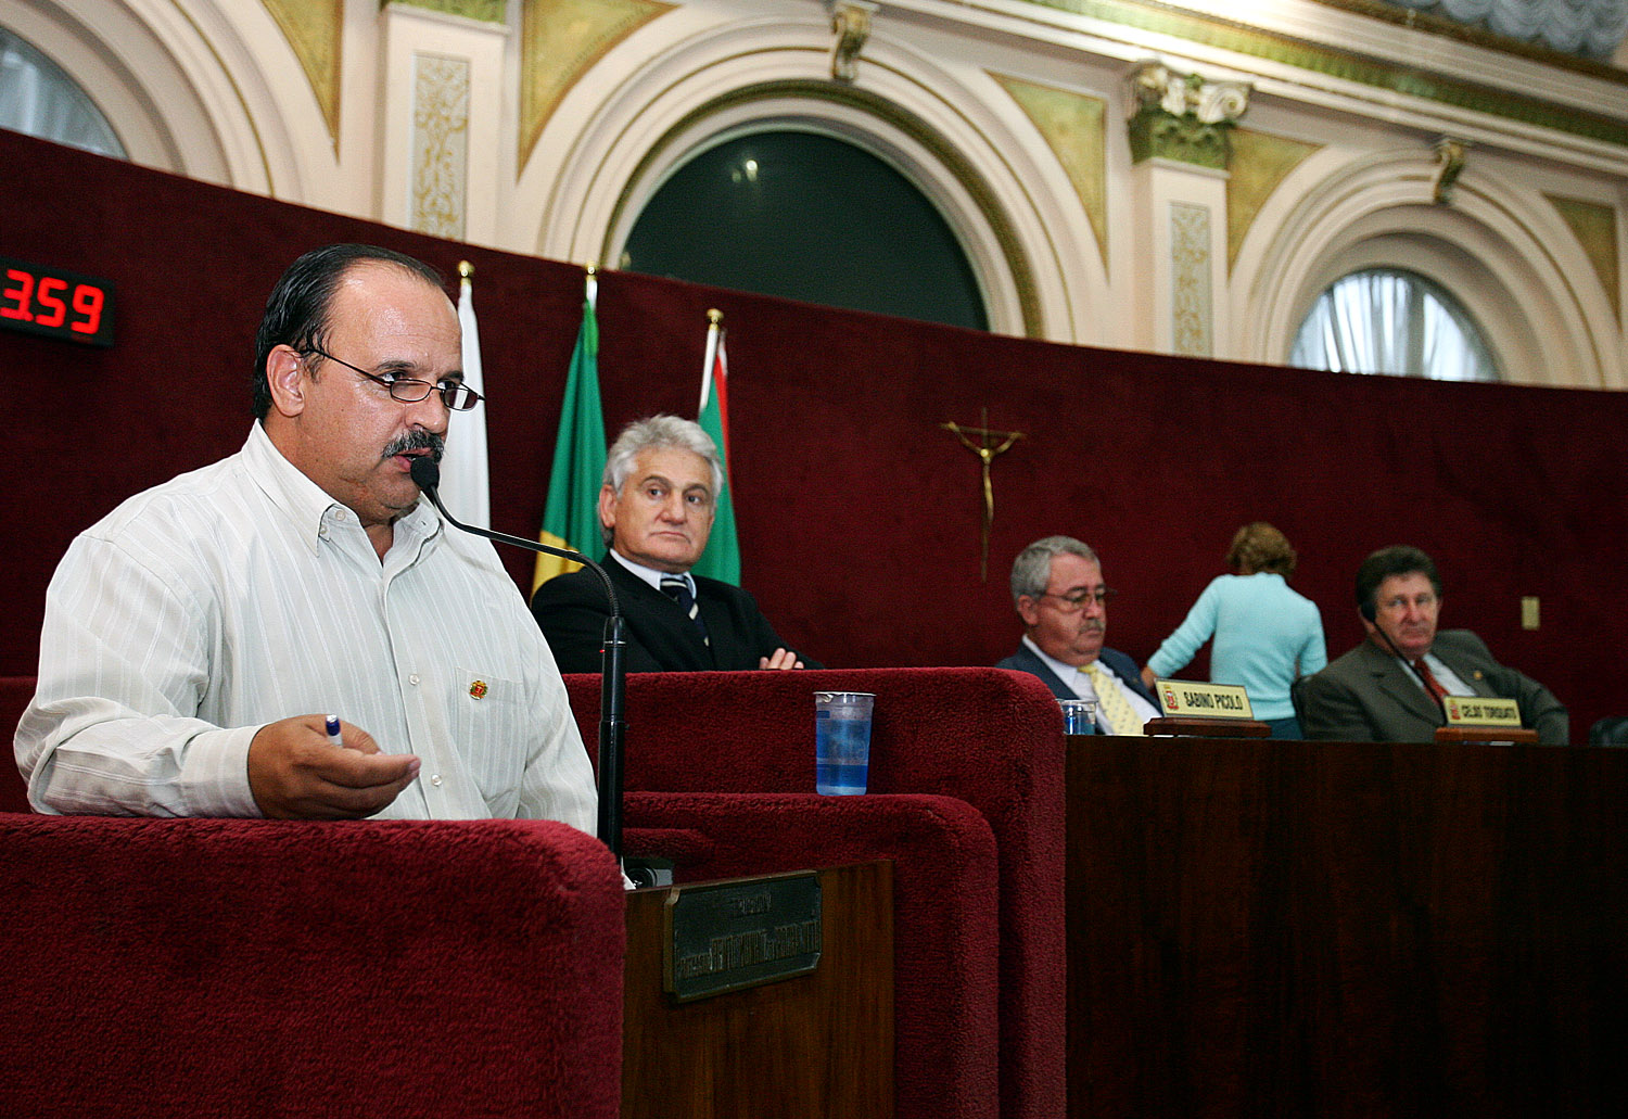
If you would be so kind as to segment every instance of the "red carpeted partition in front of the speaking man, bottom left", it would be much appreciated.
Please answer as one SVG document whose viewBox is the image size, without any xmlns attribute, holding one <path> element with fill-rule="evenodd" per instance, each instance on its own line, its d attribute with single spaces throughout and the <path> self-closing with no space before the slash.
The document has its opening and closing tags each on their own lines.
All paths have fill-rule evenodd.
<svg viewBox="0 0 1628 1119">
<path fill-rule="evenodd" d="M 0 1114 L 614 1119 L 622 884 L 565 824 L 0 816 Z"/>
</svg>

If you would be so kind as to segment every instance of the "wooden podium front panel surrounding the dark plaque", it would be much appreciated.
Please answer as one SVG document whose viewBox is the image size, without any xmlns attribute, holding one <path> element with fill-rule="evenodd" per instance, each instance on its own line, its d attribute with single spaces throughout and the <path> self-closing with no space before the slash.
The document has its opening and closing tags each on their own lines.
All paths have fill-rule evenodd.
<svg viewBox="0 0 1628 1119">
<path fill-rule="evenodd" d="M 664 990 L 666 914 L 690 886 L 632 891 L 624 1119 L 889 1119 L 892 870 L 871 862 L 817 871 L 822 935 L 812 972 L 682 1003 Z"/>
</svg>

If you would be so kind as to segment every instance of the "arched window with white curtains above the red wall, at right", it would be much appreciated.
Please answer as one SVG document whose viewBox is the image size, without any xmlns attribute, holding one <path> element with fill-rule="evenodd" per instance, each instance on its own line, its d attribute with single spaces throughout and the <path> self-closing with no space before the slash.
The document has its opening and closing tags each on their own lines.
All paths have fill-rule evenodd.
<svg viewBox="0 0 1628 1119">
<path fill-rule="evenodd" d="M 1351 272 L 1301 323 L 1289 363 L 1438 381 L 1496 381 L 1498 366 L 1468 311 L 1441 285 L 1403 269 Z"/>
</svg>

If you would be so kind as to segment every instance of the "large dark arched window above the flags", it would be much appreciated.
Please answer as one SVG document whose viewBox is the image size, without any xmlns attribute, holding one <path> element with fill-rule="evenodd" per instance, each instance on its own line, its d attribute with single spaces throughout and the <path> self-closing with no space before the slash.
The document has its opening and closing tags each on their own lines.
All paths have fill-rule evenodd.
<svg viewBox="0 0 1628 1119">
<path fill-rule="evenodd" d="M 988 329 L 967 254 L 905 176 L 843 140 L 754 132 L 674 171 L 620 265 L 697 283 Z"/>
</svg>

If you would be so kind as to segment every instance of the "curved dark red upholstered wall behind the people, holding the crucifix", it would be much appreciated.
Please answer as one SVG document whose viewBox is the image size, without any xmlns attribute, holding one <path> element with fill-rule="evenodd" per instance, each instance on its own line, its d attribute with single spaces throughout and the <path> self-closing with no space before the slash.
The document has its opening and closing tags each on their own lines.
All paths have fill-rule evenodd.
<svg viewBox="0 0 1628 1119">
<path fill-rule="evenodd" d="M 448 275 L 475 264 L 490 396 L 493 523 L 544 505 L 581 301 L 573 265 L 304 210 L 0 132 L 0 256 L 112 280 L 119 344 L 0 332 L 11 479 L 0 674 L 36 666 L 50 570 L 129 494 L 236 450 L 251 339 L 298 252 L 371 239 Z M 1444 624 L 1477 629 L 1548 682 L 1584 735 L 1620 712 L 1628 394 L 1426 384 L 1180 360 L 832 311 L 609 272 L 601 381 L 612 428 L 694 410 L 705 311 L 729 327 L 746 583 L 832 666 L 987 665 L 1011 652 L 1011 557 L 1070 533 L 1120 588 L 1112 645 L 1138 658 L 1221 572 L 1234 528 L 1276 523 L 1337 655 L 1361 635 L 1351 575 L 1415 542 L 1447 581 Z M 975 456 L 941 423 L 1029 438 L 993 469 L 978 575 Z M 529 559 L 510 557 L 529 588 Z M 1522 630 L 1519 599 L 1542 599 Z"/>
</svg>

